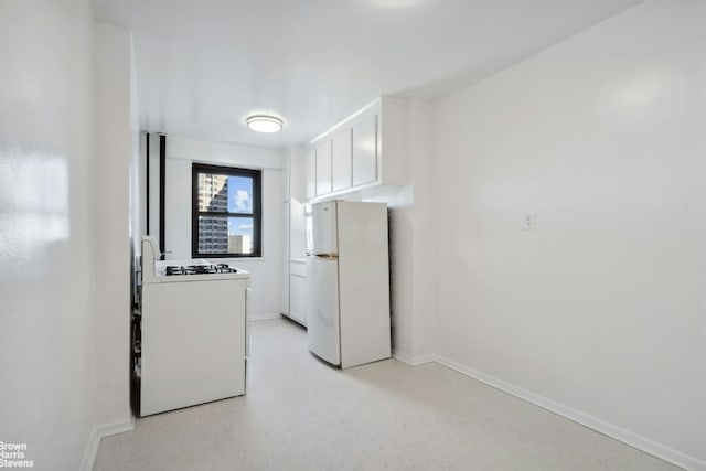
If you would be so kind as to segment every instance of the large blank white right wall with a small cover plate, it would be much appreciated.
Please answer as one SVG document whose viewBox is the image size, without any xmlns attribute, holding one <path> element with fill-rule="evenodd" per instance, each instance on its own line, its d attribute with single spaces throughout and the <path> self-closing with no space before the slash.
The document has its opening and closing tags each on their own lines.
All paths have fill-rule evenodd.
<svg viewBox="0 0 706 471">
<path fill-rule="evenodd" d="M 441 360 L 694 469 L 705 24 L 649 0 L 446 98 L 436 156 Z"/>
</svg>

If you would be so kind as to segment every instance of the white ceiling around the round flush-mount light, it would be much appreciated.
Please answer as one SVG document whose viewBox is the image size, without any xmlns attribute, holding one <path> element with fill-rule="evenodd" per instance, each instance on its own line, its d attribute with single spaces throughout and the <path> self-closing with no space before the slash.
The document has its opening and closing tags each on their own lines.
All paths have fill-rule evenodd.
<svg viewBox="0 0 706 471">
<path fill-rule="evenodd" d="M 435 99 L 641 0 L 94 0 L 133 31 L 141 127 L 285 147 L 375 97 Z M 245 127 L 271 111 L 285 129 Z"/>
</svg>

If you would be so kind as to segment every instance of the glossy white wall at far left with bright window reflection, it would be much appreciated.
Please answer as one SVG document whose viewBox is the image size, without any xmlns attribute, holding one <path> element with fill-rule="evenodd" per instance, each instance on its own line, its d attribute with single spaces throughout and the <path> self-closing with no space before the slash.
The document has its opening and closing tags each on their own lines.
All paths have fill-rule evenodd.
<svg viewBox="0 0 706 471">
<path fill-rule="evenodd" d="M 0 2 L 0 440 L 82 465 L 95 410 L 94 21 Z"/>
</svg>

